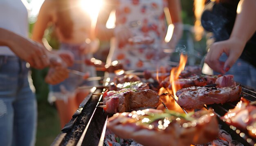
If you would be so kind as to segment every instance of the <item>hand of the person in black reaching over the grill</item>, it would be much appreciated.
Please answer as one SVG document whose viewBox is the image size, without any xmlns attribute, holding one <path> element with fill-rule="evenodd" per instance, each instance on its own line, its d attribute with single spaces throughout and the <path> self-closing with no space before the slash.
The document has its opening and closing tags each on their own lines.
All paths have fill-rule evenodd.
<svg viewBox="0 0 256 146">
<path fill-rule="evenodd" d="M 245 43 L 236 38 L 215 42 L 210 46 L 204 62 L 214 71 L 225 74 L 225 72 L 229 71 L 231 66 L 233 66 L 236 60 L 238 60 L 244 48 Z M 226 53 L 228 56 L 225 62 L 219 60 L 222 53 Z"/>
</svg>

